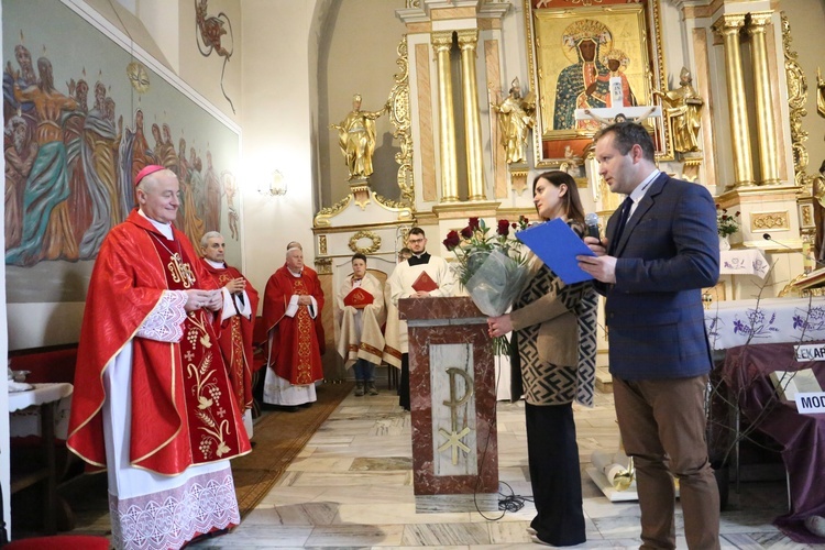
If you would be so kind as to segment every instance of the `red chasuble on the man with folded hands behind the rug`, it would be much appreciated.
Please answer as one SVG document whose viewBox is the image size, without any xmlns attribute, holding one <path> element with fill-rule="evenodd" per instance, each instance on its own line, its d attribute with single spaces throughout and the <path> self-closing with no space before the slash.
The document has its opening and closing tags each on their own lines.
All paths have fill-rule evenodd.
<svg viewBox="0 0 825 550">
<path fill-rule="evenodd" d="M 286 308 L 293 295 L 315 297 L 318 302 L 315 319 L 310 317 L 307 306 L 299 306 L 295 317 L 286 317 Z M 322 309 L 321 283 L 318 274 L 309 267 L 304 267 L 300 277 L 294 277 L 284 265 L 266 283 L 264 323 L 272 341 L 270 366 L 290 384 L 312 384 L 323 378 Z"/>
</svg>

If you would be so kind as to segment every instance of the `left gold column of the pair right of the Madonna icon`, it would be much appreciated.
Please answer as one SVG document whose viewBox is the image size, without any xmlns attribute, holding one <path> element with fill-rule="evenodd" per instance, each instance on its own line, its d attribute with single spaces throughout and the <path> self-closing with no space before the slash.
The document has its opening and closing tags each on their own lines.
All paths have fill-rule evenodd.
<svg viewBox="0 0 825 550">
<path fill-rule="evenodd" d="M 724 15 L 713 25 L 724 41 L 727 102 L 730 111 L 730 133 L 734 144 L 734 185 L 727 188 L 754 185 L 754 161 L 750 155 L 750 128 L 748 106 L 745 102 L 745 76 L 741 68 L 739 30 L 745 24 L 744 14 Z"/>
</svg>

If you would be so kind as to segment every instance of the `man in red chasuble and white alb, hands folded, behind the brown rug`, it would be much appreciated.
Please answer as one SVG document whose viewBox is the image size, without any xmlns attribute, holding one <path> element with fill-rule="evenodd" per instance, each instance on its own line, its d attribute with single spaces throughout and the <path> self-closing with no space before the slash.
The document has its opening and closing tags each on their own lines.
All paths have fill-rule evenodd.
<svg viewBox="0 0 825 550">
<path fill-rule="evenodd" d="M 264 403 L 289 407 L 317 400 L 316 381 L 323 378 L 323 290 L 315 270 L 304 265 L 299 243 L 287 245 L 286 263 L 270 277 L 264 292 L 264 323 L 270 336 Z"/>
</svg>

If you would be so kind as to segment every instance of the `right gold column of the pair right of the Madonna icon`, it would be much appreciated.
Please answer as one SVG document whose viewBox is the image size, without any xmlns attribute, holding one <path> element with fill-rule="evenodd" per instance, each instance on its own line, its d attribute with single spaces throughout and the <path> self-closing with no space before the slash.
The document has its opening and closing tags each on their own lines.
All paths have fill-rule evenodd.
<svg viewBox="0 0 825 550">
<path fill-rule="evenodd" d="M 778 146 L 777 127 L 773 121 L 773 95 L 771 75 L 768 65 L 768 43 L 765 30 L 770 24 L 770 12 L 749 13 L 746 30 L 750 36 L 750 51 L 754 61 L 754 87 L 756 88 L 757 141 L 759 145 L 759 165 L 761 182 L 759 185 L 779 184 L 777 167 Z"/>
</svg>

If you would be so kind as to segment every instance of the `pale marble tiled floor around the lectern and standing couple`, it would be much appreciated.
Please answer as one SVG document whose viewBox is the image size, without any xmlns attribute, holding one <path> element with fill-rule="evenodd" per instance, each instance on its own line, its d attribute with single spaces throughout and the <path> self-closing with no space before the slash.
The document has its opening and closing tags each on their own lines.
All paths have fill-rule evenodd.
<svg viewBox="0 0 825 550">
<path fill-rule="evenodd" d="M 618 429 L 613 395 L 596 394 L 594 408 L 575 407 L 582 470 L 593 450 L 615 451 Z M 270 494 L 231 534 L 188 548 L 439 548 L 537 549 L 526 527 L 535 515 L 527 468 L 524 403 L 499 403 L 498 463 L 505 494 L 526 496 L 518 512 L 471 509 L 413 494 L 410 419 L 395 392 L 348 396 L 311 438 Z M 587 542 L 574 548 L 638 548 L 639 508 L 612 504 L 583 475 Z M 771 520 L 787 506 L 783 482 L 743 483 L 722 516 L 723 549 L 799 549 Z M 472 503 L 472 498 L 470 498 Z M 682 532 L 676 505 L 676 529 Z M 95 526 L 82 521 L 90 521 Z M 76 531 L 94 531 L 108 516 L 78 518 Z M 684 537 L 680 549 L 688 548 Z M 823 548 L 823 547 L 820 547 Z"/>
</svg>

